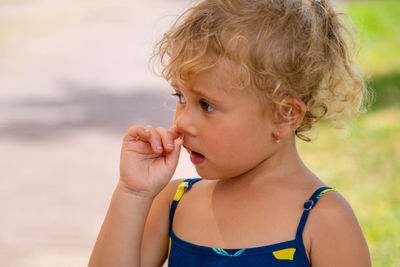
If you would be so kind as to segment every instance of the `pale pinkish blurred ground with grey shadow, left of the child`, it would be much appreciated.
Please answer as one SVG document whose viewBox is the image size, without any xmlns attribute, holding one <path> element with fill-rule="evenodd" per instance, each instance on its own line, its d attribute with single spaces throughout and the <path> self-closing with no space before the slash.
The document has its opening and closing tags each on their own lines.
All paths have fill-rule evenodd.
<svg viewBox="0 0 400 267">
<path fill-rule="evenodd" d="M 185 6 L 0 0 L 0 267 L 87 265 L 125 129 L 172 122 L 148 59 Z"/>
</svg>

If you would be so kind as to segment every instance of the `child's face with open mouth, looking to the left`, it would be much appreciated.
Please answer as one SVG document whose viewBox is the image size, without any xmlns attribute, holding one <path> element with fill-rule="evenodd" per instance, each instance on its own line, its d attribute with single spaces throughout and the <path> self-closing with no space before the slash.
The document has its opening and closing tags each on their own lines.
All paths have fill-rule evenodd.
<svg viewBox="0 0 400 267">
<path fill-rule="evenodd" d="M 175 124 L 199 175 L 236 177 L 257 169 L 275 150 L 271 111 L 249 89 L 233 88 L 229 63 L 184 84 L 172 81 L 178 103 Z"/>
</svg>

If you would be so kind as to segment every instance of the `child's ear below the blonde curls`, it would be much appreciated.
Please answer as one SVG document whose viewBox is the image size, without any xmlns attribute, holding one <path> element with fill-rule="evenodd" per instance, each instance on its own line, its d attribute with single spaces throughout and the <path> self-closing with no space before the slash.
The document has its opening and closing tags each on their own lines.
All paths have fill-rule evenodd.
<svg viewBox="0 0 400 267">
<path fill-rule="evenodd" d="M 279 137 L 284 138 L 290 132 L 294 132 L 303 121 L 307 107 L 303 101 L 297 98 L 287 98 L 283 105 L 276 110 L 275 125 Z"/>
</svg>

